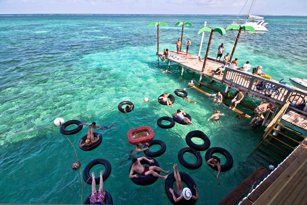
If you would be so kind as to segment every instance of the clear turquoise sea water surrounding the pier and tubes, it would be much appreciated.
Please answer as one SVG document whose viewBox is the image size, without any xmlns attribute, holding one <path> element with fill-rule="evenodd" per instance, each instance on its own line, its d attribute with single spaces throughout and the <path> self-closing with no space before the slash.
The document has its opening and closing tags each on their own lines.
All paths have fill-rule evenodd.
<svg viewBox="0 0 307 205">
<path fill-rule="evenodd" d="M 173 64 L 172 73 L 161 73 L 167 64 L 160 61 L 157 65 L 156 28 L 148 27 L 150 22 L 169 24 L 160 28 L 161 51 L 175 49 L 175 41 L 181 36 L 181 27 L 174 27 L 176 22 L 192 22 L 192 27 L 185 27 L 184 44 L 190 38 L 190 53 L 197 55 L 201 39 L 197 32 L 204 21 L 208 26 L 226 28 L 234 19 L 235 16 L 188 15 L 0 16 L 0 203 L 80 203 L 83 179 L 80 170 L 71 169 L 72 162 L 77 160 L 74 148 L 59 128 L 52 126 L 56 117 L 83 123 L 96 121 L 99 125 L 116 121 L 113 128 L 99 131 L 103 142 L 90 152 L 78 148 L 86 128 L 68 136 L 82 168 L 96 158 L 110 161 L 112 172 L 104 190 L 111 193 L 115 204 L 140 200 L 170 204 L 162 179 L 150 186 L 137 186 L 128 178 L 130 162 L 119 165 L 134 148 L 126 139 L 131 127 L 150 126 L 155 139 L 165 141 L 167 150 L 156 160 L 161 168 L 171 171 L 177 163 L 180 171 L 192 176 L 199 190 L 198 204 L 218 203 L 256 168 L 267 167 L 266 161 L 250 156 L 263 131 L 251 130 L 248 120 L 237 120 L 235 112 L 212 103 L 211 98 L 194 89 L 187 91 L 188 98 L 196 104 L 179 97 L 171 109 L 154 105 L 157 101 L 138 103 L 144 97 L 157 99 L 161 93 L 183 89 L 191 79 L 199 79 L 199 75 L 192 73 L 181 77 L 181 71 Z M 262 65 L 265 73 L 276 80 L 285 78 L 288 84 L 289 77 L 306 77 L 307 18 L 266 16 L 265 19 L 269 22 L 269 32 L 243 33 L 234 57 L 239 58 L 240 65 L 246 61 L 255 67 Z M 231 53 L 236 35 L 236 31 L 227 31 L 224 36 L 214 34 L 210 56 L 216 57 L 222 42 L 225 52 Z M 208 37 L 205 34 L 202 56 Z M 118 103 L 124 100 L 136 103 L 134 111 L 125 115 L 117 110 Z M 252 105 L 259 103 L 248 97 L 246 101 Z M 238 108 L 251 113 L 240 105 Z M 176 125 L 171 129 L 157 126 L 159 117 L 177 109 L 189 113 L 194 125 Z M 215 109 L 225 113 L 220 117 L 221 124 L 207 121 Z M 233 156 L 234 166 L 220 174 L 220 185 L 212 175 L 216 171 L 208 168 L 205 161 L 205 166 L 197 170 L 185 169 L 178 162 L 178 151 L 187 147 L 185 135 L 196 129 L 209 136 L 211 147 L 223 147 Z M 185 159 L 194 160 L 189 155 Z M 101 168 L 95 166 L 92 170 L 98 175 Z M 87 184 L 82 201 L 90 193 Z"/>
</svg>

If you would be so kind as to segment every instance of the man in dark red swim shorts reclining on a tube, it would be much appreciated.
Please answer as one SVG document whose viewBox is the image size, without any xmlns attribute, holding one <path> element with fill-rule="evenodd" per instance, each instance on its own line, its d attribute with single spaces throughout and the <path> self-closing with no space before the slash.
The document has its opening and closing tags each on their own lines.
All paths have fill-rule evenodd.
<svg viewBox="0 0 307 205">
<path fill-rule="evenodd" d="M 163 169 L 161 169 L 160 167 L 157 167 L 157 166 L 146 166 L 145 168 L 143 167 L 143 165 L 140 163 L 141 160 L 147 160 L 150 164 L 154 162 L 154 160 L 149 160 L 147 159 L 146 157 L 139 157 L 138 159 L 136 158 L 132 158 L 132 167 L 131 167 L 131 170 L 130 170 L 130 173 L 129 173 L 129 178 L 138 178 L 138 175 L 135 174 L 133 175 L 133 172 L 135 171 L 136 173 L 142 175 L 142 176 L 146 176 L 146 175 L 154 175 L 156 177 L 160 177 L 162 179 L 166 179 L 169 175 L 165 175 L 165 176 L 162 176 L 162 175 L 159 175 L 156 171 L 162 171 L 163 173 L 165 174 L 168 174 L 169 171 L 164 171 Z"/>
</svg>

